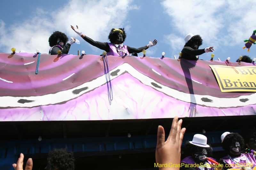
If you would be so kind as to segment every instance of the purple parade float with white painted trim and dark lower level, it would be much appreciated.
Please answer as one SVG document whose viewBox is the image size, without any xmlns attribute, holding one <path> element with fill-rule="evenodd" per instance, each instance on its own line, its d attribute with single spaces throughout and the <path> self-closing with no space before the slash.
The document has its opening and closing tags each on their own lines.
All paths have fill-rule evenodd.
<svg viewBox="0 0 256 170">
<path fill-rule="evenodd" d="M 20 152 L 39 169 L 60 147 L 78 169 L 154 168 L 157 126 L 174 116 L 184 144 L 204 133 L 216 153 L 222 132 L 253 126 L 255 63 L 160 57 L 0 53 L 0 169 Z"/>
</svg>

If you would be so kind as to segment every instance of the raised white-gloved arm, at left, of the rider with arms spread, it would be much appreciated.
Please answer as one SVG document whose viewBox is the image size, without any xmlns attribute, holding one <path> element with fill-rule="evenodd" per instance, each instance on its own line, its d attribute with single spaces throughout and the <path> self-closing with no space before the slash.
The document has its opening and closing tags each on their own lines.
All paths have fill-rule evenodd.
<svg viewBox="0 0 256 170">
<path fill-rule="evenodd" d="M 100 41 L 94 41 L 91 38 L 85 36 L 81 30 L 78 28 L 78 26 L 76 26 L 76 28 L 74 26 L 71 26 L 71 28 L 79 35 L 81 36 L 86 42 L 88 42 L 89 44 L 93 45 L 94 47 L 100 48 L 106 52 L 109 52 L 109 45 L 107 42 L 100 42 Z"/>
</svg>

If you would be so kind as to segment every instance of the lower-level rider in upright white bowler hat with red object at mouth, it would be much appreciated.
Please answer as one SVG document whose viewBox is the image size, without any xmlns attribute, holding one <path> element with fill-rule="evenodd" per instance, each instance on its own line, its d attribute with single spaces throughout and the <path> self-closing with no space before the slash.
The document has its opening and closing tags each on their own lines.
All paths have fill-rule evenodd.
<svg viewBox="0 0 256 170">
<path fill-rule="evenodd" d="M 181 160 L 180 170 L 213 170 L 216 167 L 213 165 L 214 163 L 207 160 L 208 155 L 212 154 L 212 147 L 207 144 L 206 136 L 194 135 L 193 140 L 185 144 L 185 148 L 188 153 L 191 153 L 191 156 Z"/>
</svg>

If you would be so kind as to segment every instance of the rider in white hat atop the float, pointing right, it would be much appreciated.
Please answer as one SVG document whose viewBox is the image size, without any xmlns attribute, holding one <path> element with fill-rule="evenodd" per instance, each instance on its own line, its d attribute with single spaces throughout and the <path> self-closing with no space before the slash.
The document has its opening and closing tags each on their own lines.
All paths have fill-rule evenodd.
<svg viewBox="0 0 256 170">
<path fill-rule="evenodd" d="M 205 52 L 212 52 L 212 50 L 214 50 L 213 47 L 198 49 L 203 44 L 203 40 L 200 35 L 193 35 L 192 33 L 189 33 L 184 40 L 186 44 L 181 51 L 181 58 L 185 58 L 187 60 L 198 60 L 198 55 L 204 54 Z"/>
</svg>

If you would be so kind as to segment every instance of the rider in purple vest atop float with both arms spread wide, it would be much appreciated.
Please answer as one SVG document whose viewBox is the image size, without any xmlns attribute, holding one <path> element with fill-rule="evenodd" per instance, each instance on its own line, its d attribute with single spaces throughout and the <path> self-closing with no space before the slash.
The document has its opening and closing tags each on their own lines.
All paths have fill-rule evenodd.
<svg viewBox="0 0 256 170">
<path fill-rule="evenodd" d="M 126 38 L 126 33 L 124 31 L 124 28 L 119 28 L 119 29 L 115 29 L 112 28 L 109 35 L 108 35 L 108 39 L 110 40 L 110 43 L 108 42 L 99 42 L 99 41 L 94 41 L 91 38 L 85 36 L 81 30 L 78 28 L 78 26 L 76 26 L 76 28 L 74 26 L 71 26 L 71 28 L 79 35 L 81 36 L 86 42 L 90 43 L 91 45 L 100 48 L 104 51 L 107 52 L 107 55 L 114 55 L 114 56 L 124 56 L 125 52 L 124 50 L 127 50 L 127 55 L 130 55 L 132 53 L 140 53 L 142 52 L 143 49 L 148 49 L 149 47 L 152 47 L 154 45 L 156 45 L 157 40 L 154 41 L 149 41 L 149 44 L 144 46 L 144 47 L 140 47 L 140 48 L 132 48 L 129 46 L 126 46 L 123 44 L 123 42 L 125 41 Z"/>
</svg>

